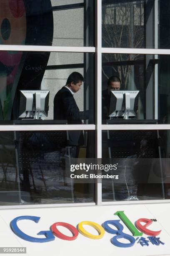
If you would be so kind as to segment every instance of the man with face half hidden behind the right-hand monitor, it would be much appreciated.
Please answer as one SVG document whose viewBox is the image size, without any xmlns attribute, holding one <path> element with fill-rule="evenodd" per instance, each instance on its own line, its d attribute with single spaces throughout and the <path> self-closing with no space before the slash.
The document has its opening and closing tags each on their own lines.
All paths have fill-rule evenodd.
<svg viewBox="0 0 170 256">
<path fill-rule="evenodd" d="M 110 107 L 110 91 L 120 90 L 121 80 L 119 77 L 112 76 L 107 81 L 107 89 L 102 91 L 102 120 L 106 120 Z"/>
</svg>

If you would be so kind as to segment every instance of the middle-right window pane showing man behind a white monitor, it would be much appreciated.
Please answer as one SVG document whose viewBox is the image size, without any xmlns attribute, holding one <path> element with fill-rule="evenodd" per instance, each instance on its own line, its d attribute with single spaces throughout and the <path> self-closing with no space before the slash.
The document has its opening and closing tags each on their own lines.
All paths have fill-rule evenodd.
<svg viewBox="0 0 170 256">
<path fill-rule="evenodd" d="M 102 122 L 170 123 L 169 59 L 102 54 Z"/>
</svg>

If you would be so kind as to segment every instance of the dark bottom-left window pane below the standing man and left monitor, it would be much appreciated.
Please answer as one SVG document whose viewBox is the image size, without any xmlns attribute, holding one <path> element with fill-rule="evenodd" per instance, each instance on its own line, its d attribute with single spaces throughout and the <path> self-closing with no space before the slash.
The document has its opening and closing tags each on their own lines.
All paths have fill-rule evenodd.
<svg viewBox="0 0 170 256">
<path fill-rule="evenodd" d="M 84 135 L 83 135 L 84 133 Z M 73 146 L 78 134 L 84 142 Z M 94 158 L 94 131 L 0 133 L 0 205 L 94 202 L 94 184 L 68 179 L 69 158 Z"/>
</svg>

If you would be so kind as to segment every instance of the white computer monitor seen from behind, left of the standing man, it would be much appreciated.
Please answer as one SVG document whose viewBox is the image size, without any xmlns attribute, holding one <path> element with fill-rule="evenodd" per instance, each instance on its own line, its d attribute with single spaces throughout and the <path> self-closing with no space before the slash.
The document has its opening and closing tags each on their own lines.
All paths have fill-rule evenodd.
<svg viewBox="0 0 170 256">
<path fill-rule="evenodd" d="M 49 90 L 20 90 L 19 118 L 47 117 L 49 94 Z"/>
</svg>

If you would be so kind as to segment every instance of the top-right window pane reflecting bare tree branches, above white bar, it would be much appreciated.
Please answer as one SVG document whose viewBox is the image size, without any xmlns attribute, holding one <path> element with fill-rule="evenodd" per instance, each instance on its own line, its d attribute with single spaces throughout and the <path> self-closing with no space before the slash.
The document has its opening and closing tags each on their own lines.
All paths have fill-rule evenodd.
<svg viewBox="0 0 170 256">
<path fill-rule="evenodd" d="M 170 1 L 102 0 L 102 46 L 170 49 Z"/>
</svg>

